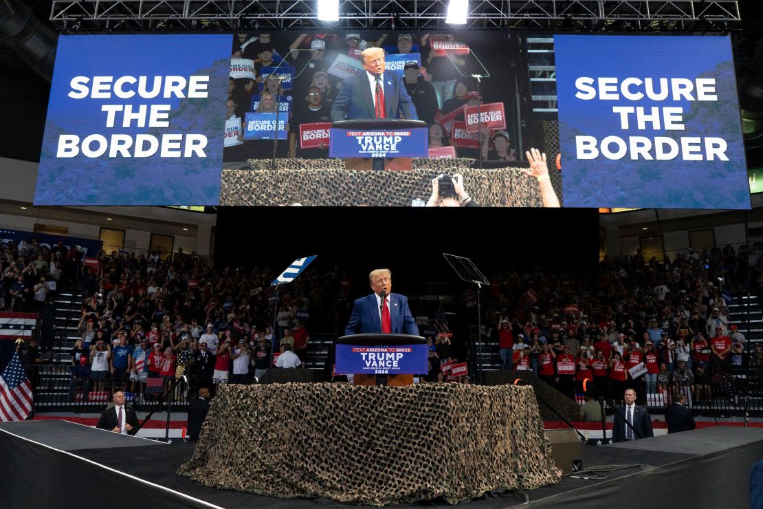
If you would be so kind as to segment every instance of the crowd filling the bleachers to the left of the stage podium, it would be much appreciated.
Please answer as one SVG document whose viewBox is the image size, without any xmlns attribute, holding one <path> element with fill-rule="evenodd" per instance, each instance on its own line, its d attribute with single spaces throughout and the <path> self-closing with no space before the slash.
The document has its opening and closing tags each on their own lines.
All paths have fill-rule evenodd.
<svg viewBox="0 0 763 509">
<path fill-rule="evenodd" d="M 334 272 L 308 271 L 288 285 L 278 296 L 274 332 L 273 279 L 259 267 L 217 271 L 182 250 L 101 253 L 98 266 L 83 272 L 74 378 L 89 378 L 95 391 L 110 380 L 140 393 L 150 379 L 187 375 L 211 386 L 249 382 L 271 359 L 278 367 L 301 366 L 309 339 L 303 323 L 327 311 L 340 280 Z"/>
</svg>

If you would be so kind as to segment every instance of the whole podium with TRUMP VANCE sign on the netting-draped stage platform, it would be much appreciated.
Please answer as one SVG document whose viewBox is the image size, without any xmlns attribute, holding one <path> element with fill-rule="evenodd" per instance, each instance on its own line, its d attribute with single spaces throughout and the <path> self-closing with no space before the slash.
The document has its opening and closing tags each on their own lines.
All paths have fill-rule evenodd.
<svg viewBox="0 0 763 509">
<path fill-rule="evenodd" d="M 427 340 L 410 334 L 363 333 L 336 340 L 337 375 L 354 375 L 355 385 L 413 385 L 429 371 Z"/>
</svg>

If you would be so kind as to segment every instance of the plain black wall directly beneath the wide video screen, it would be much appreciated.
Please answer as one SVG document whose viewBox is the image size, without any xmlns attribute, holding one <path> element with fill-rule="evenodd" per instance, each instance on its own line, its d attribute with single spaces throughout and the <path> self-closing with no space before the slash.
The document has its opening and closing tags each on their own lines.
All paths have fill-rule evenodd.
<svg viewBox="0 0 763 509">
<path fill-rule="evenodd" d="M 497 269 L 597 267 L 595 209 L 220 208 L 218 266 L 253 264 L 280 272 L 301 256 L 361 274 L 380 266 L 407 281 L 448 281 L 442 253 Z"/>
</svg>

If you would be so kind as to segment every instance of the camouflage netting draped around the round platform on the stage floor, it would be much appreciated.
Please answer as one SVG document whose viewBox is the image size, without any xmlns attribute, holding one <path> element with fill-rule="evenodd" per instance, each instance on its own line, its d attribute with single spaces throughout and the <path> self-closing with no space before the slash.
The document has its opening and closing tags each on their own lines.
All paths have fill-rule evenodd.
<svg viewBox="0 0 763 509">
<path fill-rule="evenodd" d="M 221 385 L 179 474 L 375 506 L 455 504 L 562 478 L 532 388 L 462 384 Z"/>
</svg>

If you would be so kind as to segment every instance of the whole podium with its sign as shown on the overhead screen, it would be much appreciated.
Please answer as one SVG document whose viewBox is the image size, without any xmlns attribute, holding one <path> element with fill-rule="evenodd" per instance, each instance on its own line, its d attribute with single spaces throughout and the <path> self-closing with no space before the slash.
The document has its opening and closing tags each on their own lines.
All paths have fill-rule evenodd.
<svg viewBox="0 0 763 509">
<path fill-rule="evenodd" d="M 345 120 L 332 124 L 329 157 L 345 158 L 346 169 L 410 170 L 411 158 L 427 157 L 428 147 L 424 121 Z"/>
</svg>

